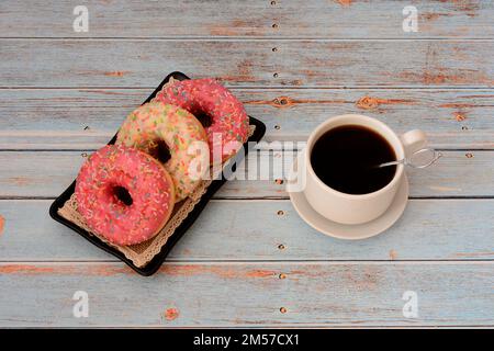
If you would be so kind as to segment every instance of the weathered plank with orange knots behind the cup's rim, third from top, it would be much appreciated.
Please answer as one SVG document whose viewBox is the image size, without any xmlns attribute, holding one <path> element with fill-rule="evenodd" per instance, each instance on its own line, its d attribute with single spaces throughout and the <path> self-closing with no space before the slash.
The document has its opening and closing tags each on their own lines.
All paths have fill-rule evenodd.
<svg viewBox="0 0 494 351">
<path fill-rule="evenodd" d="M 153 89 L 0 90 L 0 148 L 97 149 Z M 424 129 L 433 146 L 494 148 L 493 90 L 235 89 L 267 125 L 266 140 L 305 140 L 330 116 L 359 113 L 397 133 Z"/>
</svg>

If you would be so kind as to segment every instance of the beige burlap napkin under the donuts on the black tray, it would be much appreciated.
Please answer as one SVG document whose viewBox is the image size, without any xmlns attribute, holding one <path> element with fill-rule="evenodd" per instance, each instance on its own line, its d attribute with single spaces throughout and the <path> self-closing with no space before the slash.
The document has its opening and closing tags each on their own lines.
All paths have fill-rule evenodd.
<svg viewBox="0 0 494 351">
<path fill-rule="evenodd" d="M 256 126 L 250 125 L 249 137 L 254 134 Z M 225 165 L 223 165 L 225 167 Z M 58 210 L 58 214 L 65 219 L 76 224 L 80 228 L 88 231 L 90 235 L 98 237 L 101 241 L 115 248 L 122 252 L 128 260 L 131 260 L 136 267 L 145 267 L 153 258 L 161 251 L 161 248 L 167 244 L 168 239 L 173 235 L 175 230 L 180 226 L 183 219 L 187 218 L 189 213 L 194 208 L 194 206 L 201 201 L 201 197 L 207 191 L 214 179 L 217 179 L 218 173 L 222 171 L 215 171 L 213 174 L 213 168 L 211 169 L 211 179 L 203 180 L 195 191 L 190 194 L 187 199 L 175 204 L 173 212 L 168 219 L 167 224 L 162 229 L 151 239 L 143 241 L 141 244 L 131 246 L 119 246 L 112 244 L 104 239 L 102 236 L 91 231 L 86 225 L 85 218 L 77 211 L 77 202 L 75 200 L 75 194 L 66 201 L 63 207 Z"/>
</svg>

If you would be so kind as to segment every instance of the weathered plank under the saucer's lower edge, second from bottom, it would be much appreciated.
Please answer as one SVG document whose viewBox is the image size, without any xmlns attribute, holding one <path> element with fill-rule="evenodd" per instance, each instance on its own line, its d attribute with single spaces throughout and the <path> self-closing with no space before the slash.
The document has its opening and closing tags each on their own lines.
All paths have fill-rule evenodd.
<svg viewBox="0 0 494 351">
<path fill-rule="evenodd" d="M 0 201 L 1 261 L 115 260 L 47 215 L 52 201 Z M 306 225 L 290 201 L 212 201 L 171 251 L 179 261 L 492 260 L 494 200 L 411 200 L 386 233 L 333 239 Z M 280 249 L 279 245 L 284 248 Z M 121 264 L 124 265 L 123 263 Z"/>
</svg>

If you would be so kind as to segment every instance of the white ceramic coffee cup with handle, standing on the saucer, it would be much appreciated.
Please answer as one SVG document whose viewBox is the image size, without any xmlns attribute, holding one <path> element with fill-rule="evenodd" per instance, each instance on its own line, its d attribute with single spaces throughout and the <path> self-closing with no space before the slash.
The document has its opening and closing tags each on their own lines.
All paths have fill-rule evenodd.
<svg viewBox="0 0 494 351">
<path fill-rule="evenodd" d="M 394 178 L 384 188 L 368 194 L 353 195 L 339 192 L 326 185 L 314 172 L 311 165 L 311 152 L 315 141 L 332 128 L 343 125 L 360 125 L 372 129 L 384 137 L 394 149 L 397 159 L 403 159 L 427 144 L 425 133 L 419 129 L 409 131 L 397 136 L 384 123 L 364 115 L 345 114 L 332 117 L 321 124 L 308 137 L 307 146 L 299 157 L 299 176 L 303 176 L 304 192 L 311 206 L 327 219 L 341 224 L 362 224 L 381 216 L 396 195 L 404 180 L 404 166 L 398 165 Z M 301 174 L 302 172 L 302 174 Z M 364 180 L 363 180 L 364 181 Z"/>
</svg>

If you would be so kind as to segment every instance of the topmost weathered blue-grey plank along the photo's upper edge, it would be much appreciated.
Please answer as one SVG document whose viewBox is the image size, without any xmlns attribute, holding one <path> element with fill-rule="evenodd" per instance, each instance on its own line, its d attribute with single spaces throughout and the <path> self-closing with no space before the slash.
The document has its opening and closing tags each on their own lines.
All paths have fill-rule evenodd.
<svg viewBox="0 0 494 351">
<path fill-rule="evenodd" d="M 74 8 L 89 11 L 89 32 L 75 32 Z M 402 30 L 414 5 L 418 32 Z M 2 1 L 2 37 L 492 37 L 489 0 L 464 1 Z M 273 24 L 276 26 L 273 27 Z"/>
</svg>

